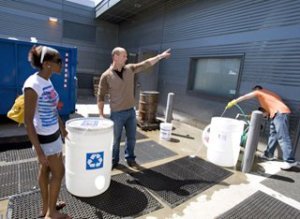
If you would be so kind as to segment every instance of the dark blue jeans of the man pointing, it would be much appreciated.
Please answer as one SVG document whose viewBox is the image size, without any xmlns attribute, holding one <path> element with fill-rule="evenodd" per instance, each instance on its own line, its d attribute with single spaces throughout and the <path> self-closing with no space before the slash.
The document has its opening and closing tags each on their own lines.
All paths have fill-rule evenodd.
<svg viewBox="0 0 300 219">
<path fill-rule="evenodd" d="M 111 112 L 110 118 L 114 122 L 113 164 L 119 163 L 123 127 L 125 127 L 126 131 L 125 159 L 130 161 L 135 160 L 136 115 L 134 108 Z"/>
</svg>

